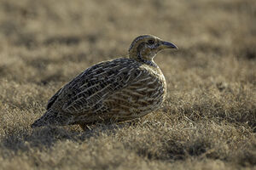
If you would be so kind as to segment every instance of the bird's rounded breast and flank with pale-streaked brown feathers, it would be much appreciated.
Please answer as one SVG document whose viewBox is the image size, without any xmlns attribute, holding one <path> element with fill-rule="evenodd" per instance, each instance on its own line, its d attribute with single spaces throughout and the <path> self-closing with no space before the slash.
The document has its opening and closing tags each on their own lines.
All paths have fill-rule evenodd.
<svg viewBox="0 0 256 170">
<path fill-rule="evenodd" d="M 166 99 L 166 79 L 159 68 L 144 67 L 143 76 L 106 100 L 113 116 L 129 120 L 160 107 Z"/>
</svg>

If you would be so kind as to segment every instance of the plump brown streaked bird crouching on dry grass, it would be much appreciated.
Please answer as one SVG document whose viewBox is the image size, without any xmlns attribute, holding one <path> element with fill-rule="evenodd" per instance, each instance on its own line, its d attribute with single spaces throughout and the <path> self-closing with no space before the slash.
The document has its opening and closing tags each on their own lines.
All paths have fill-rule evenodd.
<svg viewBox="0 0 256 170">
<path fill-rule="evenodd" d="M 136 37 L 128 55 L 102 61 L 67 82 L 48 101 L 46 112 L 31 127 L 127 122 L 160 108 L 166 78 L 154 62 L 165 48 L 177 48 L 153 35 Z"/>
</svg>

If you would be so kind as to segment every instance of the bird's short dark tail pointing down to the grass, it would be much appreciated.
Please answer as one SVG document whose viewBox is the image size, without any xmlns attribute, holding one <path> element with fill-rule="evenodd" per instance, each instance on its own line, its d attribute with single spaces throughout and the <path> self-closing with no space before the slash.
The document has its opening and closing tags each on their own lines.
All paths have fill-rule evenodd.
<svg viewBox="0 0 256 170">
<path fill-rule="evenodd" d="M 71 117 L 63 116 L 56 111 L 52 111 L 49 109 L 44 113 L 44 116 L 41 116 L 37 121 L 33 122 L 31 127 L 43 127 L 49 125 L 58 125 L 64 126 L 67 124 L 71 124 L 69 120 Z"/>
</svg>

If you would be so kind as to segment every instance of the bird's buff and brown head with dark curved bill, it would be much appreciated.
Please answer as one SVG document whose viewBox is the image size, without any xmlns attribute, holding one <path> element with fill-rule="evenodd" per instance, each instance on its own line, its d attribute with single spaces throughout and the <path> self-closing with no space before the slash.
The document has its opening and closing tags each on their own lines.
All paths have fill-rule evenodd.
<svg viewBox="0 0 256 170">
<path fill-rule="evenodd" d="M 139 36 L 131 42 L 129 58 L 148 65 L 154 65 L 154 56 L 164 48 L 177 48 L 172 42 L 165 42 L 151 35 Z"/>
</svg>

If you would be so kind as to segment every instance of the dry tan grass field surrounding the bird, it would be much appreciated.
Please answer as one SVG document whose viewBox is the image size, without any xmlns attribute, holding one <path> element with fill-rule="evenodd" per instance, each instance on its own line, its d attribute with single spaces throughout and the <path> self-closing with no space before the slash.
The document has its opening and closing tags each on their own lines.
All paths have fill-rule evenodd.
<svg viewBox="0 0 256 170">
<path fill-rule="evenodd" d="M 255 0 L 1 0 L 0 169 L 255 169 Z M 90 65 L 153 34 L 159 111 L 137 122 L 30 124 Z"/>
</svg>

